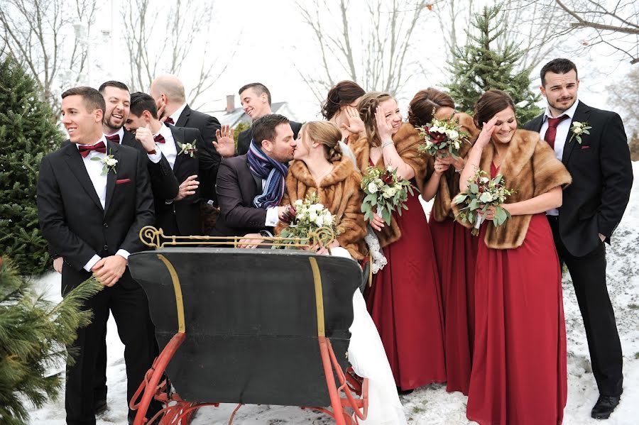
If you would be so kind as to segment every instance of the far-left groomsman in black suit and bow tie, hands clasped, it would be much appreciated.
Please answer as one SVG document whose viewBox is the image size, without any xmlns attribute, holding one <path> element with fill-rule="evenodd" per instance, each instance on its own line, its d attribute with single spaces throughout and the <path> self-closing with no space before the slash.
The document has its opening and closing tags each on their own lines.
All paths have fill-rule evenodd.
<svg viewBox="0 0 639 425">
<path fill-rule="evenodd" d="M 144 248 L 140 229 L 153 223 L 146 158 L 104 137 L 104 109 L 104 98 L 96 89 L 76 87 L 62 94 L 62 124 L 71 143 L 43 158 L 38 177 L 40 228 L 65 259 L 62 294 L 92 275 L 105 286 L 84 302 L 93 320 L 77 331 L 77 358 L 67 366 L 65 409 L 70 425 L 95 424 L 94 374 L 109 310 L 125 346 L 127 400 L 155 356 L 146 294 L 126 266 L 129 254 Z M 129 412 L 130 420 L 133 416 Z"/>
</svg>

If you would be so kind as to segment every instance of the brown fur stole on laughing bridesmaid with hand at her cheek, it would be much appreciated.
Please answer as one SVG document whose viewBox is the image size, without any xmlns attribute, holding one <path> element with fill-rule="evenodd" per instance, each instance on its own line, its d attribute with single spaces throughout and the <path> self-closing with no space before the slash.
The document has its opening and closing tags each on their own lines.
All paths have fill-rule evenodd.
<svg viewBox="0 0 639 425">
<path fill-rule="evenodd" d="M 415 171 L 414 179 L 417 189 L 421 192 L 426 182 L 426 158 L 417 150 L 419 144 L 422 143 L 420 133 L 409 123 L 403 123 L 399 131 L 393 136 L 393 142 L 402 160 Z M 349 147 L 353 150 L 355 158 L 357 158 L 357 166 L 364 172 L 366 167 L 371 165 L 371 146 L 368 144 L 368 138 L 360 136 L 352 142 L 349 140 Z M 383 156 L 379 158 L 376 165 L 385 168 Z M 381 232 L 376 231 L 376 233 L 381 247 L 398 241 L 402 236 L 402 232 L 394 218 L 391 219 L 390 226 L 384 226 Z"/>
</svg>

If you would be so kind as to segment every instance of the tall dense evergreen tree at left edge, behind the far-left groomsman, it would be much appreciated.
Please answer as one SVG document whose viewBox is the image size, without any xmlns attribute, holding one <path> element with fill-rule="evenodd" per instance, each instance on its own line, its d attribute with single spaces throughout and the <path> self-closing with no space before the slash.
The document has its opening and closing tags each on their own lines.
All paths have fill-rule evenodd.
<svg viewBox="0 0 639 425">
<path fill-rule="evenodd" d="M 62 142 L 38 84 L 18 62 L 0 58 L 0 255 L 38 275 L 50 267 L 38 228 L 35 190 L 43 156 Z"/>
</svg>

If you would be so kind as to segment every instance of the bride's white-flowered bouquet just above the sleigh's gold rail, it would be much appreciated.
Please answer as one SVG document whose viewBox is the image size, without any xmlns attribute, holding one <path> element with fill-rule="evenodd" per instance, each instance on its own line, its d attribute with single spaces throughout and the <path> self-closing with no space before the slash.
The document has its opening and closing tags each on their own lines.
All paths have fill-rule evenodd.
<svg viewBox="0 0 639 425">
<path fill-rule="evenodd" d="M 331 214 L 324 205 L 320 204 L 320 198 L 315 192 L 307 194 L 304 200 L 297 199 L 293 203 L 293 221 L 280 233 L 282 238 L 308 239 L 310 233 L 319 228 L 328 228 L 330 231 L 320 231 L 317 233 L 319 242 L 322 245 L 329 244 L 332 239 L 337 238 L 341 231 L 337 227 L 337 217 Z M 298 245 L 299 241 L 282 241 L 290 245 Z M 312 241 L 310 241 L 312 243 Z"/>
</svg>

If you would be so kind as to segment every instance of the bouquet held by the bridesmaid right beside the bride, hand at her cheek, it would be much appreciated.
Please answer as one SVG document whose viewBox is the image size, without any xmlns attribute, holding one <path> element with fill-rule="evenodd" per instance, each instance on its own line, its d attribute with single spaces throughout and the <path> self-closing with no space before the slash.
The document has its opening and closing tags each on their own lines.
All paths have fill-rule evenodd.
<svg viewBox="0 0 639 425">
<path fill-rule="evenodd" d="M 386 224 L 391 224 L 391 213 L 397 211 L 402 215 L 408 194 L 413 195 L 413 184 L 403 180 L 397 175 L 397 169 L 390 165 L 386 170 L 378 167 L 368 167 L 361 177 L 361 188 L 364 190 L 364 203 L 361 204 L 361 212 L 364 219 L 373 220 L 377 213 Z"/>
</svg>

